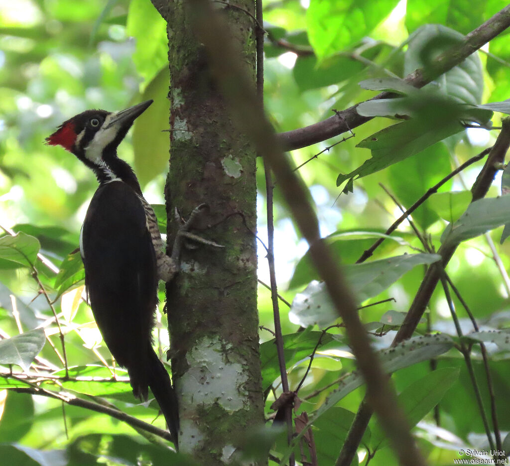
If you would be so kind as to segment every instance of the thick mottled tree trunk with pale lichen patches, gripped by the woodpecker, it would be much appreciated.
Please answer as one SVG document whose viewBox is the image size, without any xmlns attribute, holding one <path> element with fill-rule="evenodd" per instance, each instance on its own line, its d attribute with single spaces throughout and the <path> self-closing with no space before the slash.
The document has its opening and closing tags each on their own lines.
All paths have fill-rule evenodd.
<svg viewBox="0 0 510 466">
<path fill-rule="evenodd" d="M 186 2 L 152 2 L 168 23 L 170 173 L 168 239 L 200 203 L 209 211 L 200 236 L 224 248 L 183 250 L 167 284 L 173 381 L 180 403 L 181 451 L 204 464 L 235 458 L 237 445 L 263 423 L 257 314 L 256 154 L 212 82 Z M 218 3 L 255 76 L 254 3 Z M 253 86 L 255 83 L 253 82 Z M 206 228 L 210 226 L 209 228 Z"/>
</svg>

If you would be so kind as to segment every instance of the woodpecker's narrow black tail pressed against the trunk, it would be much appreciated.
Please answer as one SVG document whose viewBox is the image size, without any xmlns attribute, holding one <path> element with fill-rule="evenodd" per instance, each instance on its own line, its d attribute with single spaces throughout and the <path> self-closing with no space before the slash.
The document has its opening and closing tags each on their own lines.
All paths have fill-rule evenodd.
<svg viewBox="0 0 510 466">
<path fill-rule="evenodd" d="M 173 438 L 175 449 L 179 450 L 179 406 L 177 405 L 177 397 L 172 388 L 170 376 L 166 371 L 163 363 L 158 359 L 154 350 L 150 350 L 149 355 L 149 387 L 156 401 L 160 405 L 163 416 L 165 417 L 170 435 Z"/>
</svg>

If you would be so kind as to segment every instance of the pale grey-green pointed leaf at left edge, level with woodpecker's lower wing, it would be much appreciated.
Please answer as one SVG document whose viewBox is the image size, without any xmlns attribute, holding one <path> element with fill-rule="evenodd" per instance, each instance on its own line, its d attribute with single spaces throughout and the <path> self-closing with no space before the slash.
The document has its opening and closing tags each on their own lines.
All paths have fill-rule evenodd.
<svg viewBox="0 0 510 466">
<path fill-rule="evenodd" d="M 0 341 L 0 364 L 17 364 L 28 371 L 40 353 L 46 338 L 42 328 L 36 328 Z"/>
</svg>

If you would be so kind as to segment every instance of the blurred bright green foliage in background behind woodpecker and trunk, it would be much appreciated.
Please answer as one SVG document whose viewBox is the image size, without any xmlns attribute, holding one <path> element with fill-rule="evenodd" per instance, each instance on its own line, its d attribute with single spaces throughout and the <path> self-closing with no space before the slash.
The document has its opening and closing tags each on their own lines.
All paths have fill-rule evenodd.
<svg viewBox="0 0 510 466">
<path fill-rule="evenodd" d="M 425 24 L 442 24 L 467 34 L 506 6 L 497 0 L 476 5 L 465 0 L 365 0 L 356 2 L 355 8 L 348 8 L 349 5 L 351 2 L 343 0 L 264 1 L 265 103 L 278 132 L 315 123 L 333 115 L 334 109 L 345 109 L 375 95 L 374 91 L 359 86 L 363 80 L 403 77 L 420 65 L 417 63 L 420 56 L 410 53 L 410 49 L 417 31 L 423 32 Z M 473 60 L 473 73 L 460 77 L 456 90 L 460 88 L 461 94 L 467 94 L 475 103 L 508 98 L 510 41 L 507 34 L 484 46 Z M 148 0 L 0 0 L 0 224 L 36 237 L 40 252 L 57 267 L 78 246 L 80 225 L 96 180 L 74 156 L 61 148 L 45 146 L 44 138 L 62 121 L 83 110 L 120 110 L 140 100 L 155 99 L 155 105 L 137 120 L 128 136 L 132 144 L 122 144 L 119 154 L 134 165 L 149 202 L 163 203 L 168 170 L 168 133 L 162 131 L 168 129 L 166 61 L 166 24 Z M 459 95 L 452 90 L 453 82 L 442 77 L 436 85 L 443 86 L 449 95 Z M 499 114 L 495 114 L 493 124 L 499 122 Z M 400 216 L 380 184 L 409 208 L 429 187 L 458 164 L 490 146 L 497 136 L 496 131 L 470 128 L 398 164 L 356 180 L 353 193 L 340 195 L 342 187 L 336 186 L 338 175 L 360 167 L 370 157 L 369 150 L 356 144 L 390 124 L 393 121 L 387 118 L 372 119 L 356 128 L 353 137 L 324 151 L 299 170 L 316 203 L 321 234 L 332 235 L 333 251 L 344 264 L 354 263 L 371 246 L 373 235 L 384 233 Z M 290 157 L 296 166 L 300 165 L 348 136 L 295 150 Z M 462 176 L 445 184 L 440 193 L 433 195 L 413 215 L 419 228 L 430 235 L 436 246 L 446 223 L 460 215 L 469 202 L 466 191 L 482 164 L 483 161 L 471 166 Z M 265 186 L 263 173 L 262 169 L 258 170 L 260 187 Z M 496 180 L 490 195 L 498 194 Z M 276 273 L 279 292 L 291 302 L 296 293 L 316 277 L 307 263 L 307 246 L 300 240 L 277 189 L 275 196 Z M 265 241 L 263 190 L 258 196 L 258 212 L 259 236 Z M 386 241 L 374 258 L 411 253 L 421 248 L 408 223 L 400 227 L 396 236 L 400 240 Z M 501 328 L 510 320 L 510 280 L 505 272 L 510 265 L 510 246 L 508 241 L 499 245 L 500 236 L 501 228 L 462 243 L 448 266 L 448 273 L 484 329 Z M 259 276 L 269 282 L 265 251 L 260 249 Z M 36 266 L 44 287 L 55 296 L 58 288 L 55 272 L 41 263 Z M 43 326 L 60 351 L 52 311 L 44 296 L 39 294 L 32 272 L 19 263 L 0 258 L 1 336 L 7 338 Z M 415 267 L 387 290 L 364 302 L 395 299 L 363 309 L 363 321 L 377 322 L 380 325 L 374 328 L 380 329 L 384 322 L 381 319 L 389 310 L 406 312 L 423 274 L 423 266 Z M 82 292 L 83 287 L 74 288 L 55 302 L 66 335 L 69 366 L 82 369 L 88 366 L 91 376 L 108 377 L 109 372 L 101 359 L 110 360 L 110 355 L 101 346 L 90 310 L 80 301 Z M 15 297 L 14 307 L 11 295 Z M 163 295 L 161 298 L 164 300 Z M 456 298 L 454 302 L 460 305 Z M 270 294 L 263 287 L 259 292 L 259 312 L 261 325 L 272 328 Z M 460 317 L 463 330 L 472 331 L 462 312 Z M 289 320 L 285 305 L 282 305 L 282 319 L 284 333 L 295 333 L 298 325 Z M 437 329 L 455 335 L 446 299 L 439 290 L 430 301 L 425 320 L 421 331 Z M 164 315 L 160 328 L 166 328 Z M 341 329 L 336 331 L 341 336 Z M 271 338 L 270 332 L 261 330 L 261 341 Z M 392 332 L 377 338 L 376 344 L 384 347 L 391 339 Z M 288 365 L 291 387 L 297 386 L 308 366 L 305 355 L 315 346 L 312 340 L 305 339 L 301 353 L 289 349 L 289 360 L 293 361 L 292 366 Z M 157 341 L 163 354 L 168 348 L 165 331 L 158 331 Z M 333 346 L 314 360 L 300 397 L 334 382 L 339 372 L 353 369 L 352 359 L 345 357 L 348 351 L 345 344 Z M 510 367 L 507 353 L 497 349 L 491 348 L 494 351 L 491 370 L 496 396 L 506 400 L 510 392 Z M 40 364 L 46 367 L 62 368 L 49 344 L 44 346 L 40 358 Z M 483 400 L 488 406 L 483 368 L 476 348 L 474 358 L 476 373 L 482 381 Z M 440 368 L 460 370 L 458 379 L 452 382 L 436 411 L 436 420 L 441 420 L 441 427 L 450 437 L 446 434 L 437 437 L 432 412 L 420 423 L 417 434 L 431 463 L 451 464 L 451 458 L 456 457 L 454 450 L 460 446 L 482 448 L 487 445 L 480 436 L 483 426 L 461 354 L 449 352 L 440 357 L 437 364 Z M 267 365 L 269 374 L 270 369 L 277 368 L 274 359 Z M 394 377 L 397 390 L 403 391 L 429 370 L 428 362 L 402 369 Z M 83 371 L 79 373 L 84 374 Z M 122 371 L 118 373 L 123 375 Z M 277 377 L 271 382 L 277 395 Z M 78 394 L 103 396 L 127 413 L 152 422 L 156 409 L 134 404 L 127 382 L 114 386 L 97 382 L 95 385 L 66 385 L 65 388 Z M 51 389 L 52 382 L 47 382 L 47 387 Z M 53 390 L 57 390 L 56 385 Z M 312 411 L 327 393 L 324 391 L 311 402 L 304 403 L 304 409 Z M 362 397 L 363 388 L 352 392 L 340 401 L 339 409 L 355 412 Z M 268 411 L 273 400 L 270 394 Z M 1 447 L 2 454 L 10 458 L 7 464 L 83 465 L 95 464 L 98 458 L 109 464 L 137 461 L 148 464 L 149 459 L 159 464 L 161 455 L 166 454 L 166 447 L 149 444 L 124 423 L 99 413 L 65 406 L 64 423 L 63 407 L 56 400 L 13 392 L 7 395 L 3 391 L 0 392 L 0 412 L 2 407 L 0 442 L 9 443 Z M 510 430 L 510 419 L 502 414 L 504 401 L 498 408 L 500 428 L 506 432 Z M 336 412 L 331 422 L 351 419 L 350 414 L 342 412 Z M 347 425 L 349 422 L 345 421 Z M 156 424 L 163 427 L 161 419 Z M 318 441 L 321 458 L 325 461 L 322 464 L 331 464 L 333 460 L 328 458 L 338 454 L 342 435 L 338 431 L 329 432 L 324 423 L 322 431 L 324 437 Z M 142 442 L 143 448 L 139 446 Z M 136 452 L 140 451 L 143 453 L 137 456 Z M 47 456 L 43 458 L 44 455 Z M 393 464 L 392 455 L 389 448 L 381 449 L 371 459 L 371 464 Z M 360 460 L 366 461 L 366 458 L 365 445 L 360 450 Z"/>
</svg>

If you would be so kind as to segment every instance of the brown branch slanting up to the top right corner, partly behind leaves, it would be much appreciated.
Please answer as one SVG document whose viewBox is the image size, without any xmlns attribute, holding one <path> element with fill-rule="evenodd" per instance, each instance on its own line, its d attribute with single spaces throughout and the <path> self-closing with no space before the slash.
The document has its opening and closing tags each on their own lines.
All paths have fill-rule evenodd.
<svg viewBox="0 0 510 466">
<path fill-rule="evenodd" d="M 407 75 L 404 81 L 416 88 L 422 88 L 425 84 L 435 80 L 438 76 L 475 53 L 482 45 L 494 39 L 508 26 L 510 26 L 510 5 L 507 5 L 492 18 L 470 32 L 460 44 L 451 47 L 432 60 L 429 68 L 414 71 Z M 394 94 L 390 92 L 381 92 L 370 100 L 391 98 L 393 96 Z M 356 111 L 358 105 L 356 103 L 356 105 L 340 112 L 343 118 L 332 116 L 304 128 L 280 133 L 277 135 L 277 139 L 284 150 L 294 150 L 338 136 L 348 131 L 348 128 L 353 129 L 372 119 L 372 117 L 359 115 Z"/>
</svg>

